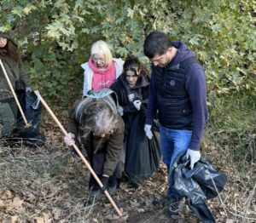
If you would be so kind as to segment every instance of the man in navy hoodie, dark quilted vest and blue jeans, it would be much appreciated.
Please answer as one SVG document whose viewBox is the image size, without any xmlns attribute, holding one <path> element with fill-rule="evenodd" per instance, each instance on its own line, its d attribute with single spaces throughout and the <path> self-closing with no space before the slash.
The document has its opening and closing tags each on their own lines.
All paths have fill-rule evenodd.
<svg viewBox="0 0 256 223">
<path fill-rule="evenodd" d="M 161 31 L 152 31 L 143 49 L 152 63 L 145 133 L 151 139 L 158 111 L 161 152 L 168 173 L 184 151 L 193 169 L 201 158 L 200 142 L 207 122 L 205 72 L 184 43 L 170 41 Z M 178 214 L 183 197 L 169 186 L 166 198 L 170 201 L 169 214 Z"/>
</svg>

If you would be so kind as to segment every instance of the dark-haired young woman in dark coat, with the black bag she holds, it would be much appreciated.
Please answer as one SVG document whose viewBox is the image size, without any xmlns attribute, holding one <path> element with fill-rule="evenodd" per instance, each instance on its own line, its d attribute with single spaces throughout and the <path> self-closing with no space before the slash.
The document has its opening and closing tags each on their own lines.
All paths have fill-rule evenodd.
<svg viewBox="0 0 256 223">
<path fill-rule="evenodd" d="M 123 163 L 125 174 L 136 185 L 154 173 L 160 161 L 159 150 L 152 157 L 149 142 L 144 134 L 144 117 L 148 102 L 149 77 L 148 71 L 137 57 L 131 56 L 125 60 L 124 71 L 111 86 L 119 99 L 119 106 L 123 107 L 123 120 L 125 122 L 125 152 Z M 137 137 L 137 139 L 135 139 Z M 159 147 L 156 145 L 156 147 Z M 155 155 L 155 154 L 154 154 Z M 151 161 L 150 161 L 151 159 Z M 154 161 L 153 161 L 154 160 Z M 154 166 L 148 168 L 149 166 Z M 135 182 L 136 181 L 136 182 Z"/>
</svg>

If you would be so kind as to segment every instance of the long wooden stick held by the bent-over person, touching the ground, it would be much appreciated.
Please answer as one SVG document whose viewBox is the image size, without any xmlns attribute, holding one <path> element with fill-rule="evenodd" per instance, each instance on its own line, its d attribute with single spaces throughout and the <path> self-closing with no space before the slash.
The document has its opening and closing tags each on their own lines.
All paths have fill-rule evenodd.
<svg viewBox="0 0 256 223">
<path fill-rule="evenodd" d="M 57 117 L 55 117 L 55 114 L 53 111 L 50 110 L 49 106 L 46 104 L 46 102 L 44 101 L 44 99 L 42 98 L 42 96 L 39 94 L 38 90 L 34 91 L 35 94 L 38 95 L 38 99 L 41 100 L 42 104 L 44 105 L 44 107 L 46 108 L 46 110 L 49 112 L 50 116 L 55 120 L 55 123 L 57 123 L 57 125 L 60 127 L 61 131 L 63 132 L 63 134 L 67 135 L 67 131 L 64 129 L 64 127 L 61 125 L 60 121 L 58 120 Z M 94 170 L 90 167 L 90 163 L 87 162 L 87 160 L 85 159 L 84 155 L 80 152 L 78 146 L 76 146 L 75 144 L 73 145 L 73 148 L 75 149 L 75 151 L 79 154 L 79 157 L 83 160 L 84 164 L 86 165 L 86 167 L 89 169 L 90 174 L 93 175 L 93 177 L 95 178 L 95 180 L 97 181 L 98 185 L 101 186 L 101 188 L 103 187 L 102 185 L 102 181 L 98 178 L 98 176 L 96 175 L 96 173 L 94 172 Z M 106 196 L 108 197 L 109 202 L 113 205 L 113 208 L 117 211 L 117 213 L 119 214 L 119 216 L 122 216 L 123 214 L 120 212 L 119 208 L 117 207 L 117 205 L 113 202 L 112 197 L 110 197 L 109 193 L 107 190 L 104 191 L 104 193 L 106 194 Z"/>
</svg>

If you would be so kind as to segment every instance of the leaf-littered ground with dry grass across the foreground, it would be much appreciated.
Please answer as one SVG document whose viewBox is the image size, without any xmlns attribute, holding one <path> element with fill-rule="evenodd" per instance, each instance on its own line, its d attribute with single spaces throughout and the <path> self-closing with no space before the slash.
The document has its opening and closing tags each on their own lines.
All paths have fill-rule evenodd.
<svg viewBox="0 0 256 223">
<path fill-rule="evenodd" d="M 48 140 L 40 148 L 2 144 L 0 222 L 199 222 L 188 207 L 171 218 L 168 206 L 152 204 L 166 194 L 166 168 L 162 163 L 137 189 L 121 184 L 112 196 L 123 214 L 119 217 L 104 194 L 89 196 L 89 171 L 63 146 L 61 133 L 47 131 L 46 136 Z M 255 163 L 251 172 L 241 175 L 228 158 L 221 158 L 219 149 L 208 146 L 203 154 L 228 175 L 229 181 L 220 197 L 207 201 L 208 208 L 216 222 L 256 222 L 255 186 L 246 183 L 255 175 Z"/>
</svg>

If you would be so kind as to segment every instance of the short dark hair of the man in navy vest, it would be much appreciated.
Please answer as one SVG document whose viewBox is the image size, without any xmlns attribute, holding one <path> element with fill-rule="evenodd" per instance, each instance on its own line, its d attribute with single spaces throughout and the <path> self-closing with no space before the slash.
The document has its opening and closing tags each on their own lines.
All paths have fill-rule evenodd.
<svg viewBox="0 0 256 223">
<path fill-rule="evenodd" d="M 171 40 L 166 33 L 162 31 L 152 31 L 148 34 L 144 41 L 144 54 L 149 58 L 153 58 L 156 54 L 166 54 L 167 49 L 172 47 Z"/>
</svg>

